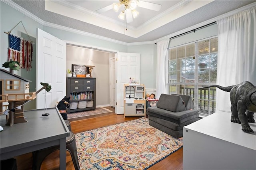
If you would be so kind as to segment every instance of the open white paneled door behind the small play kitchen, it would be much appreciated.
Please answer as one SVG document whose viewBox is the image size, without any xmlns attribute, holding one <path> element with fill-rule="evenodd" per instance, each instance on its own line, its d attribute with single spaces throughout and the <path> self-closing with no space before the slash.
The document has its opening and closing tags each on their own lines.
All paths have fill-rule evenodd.
<svg viewBox="0 0 256 170">
<path fill-rule="evenodd" d="M 124 84 L 130 77 L 140 80 L 140 54 L 117 53 L 116 55 L 116 109 L 117 114 L 124 114 Z"/>
</svg>

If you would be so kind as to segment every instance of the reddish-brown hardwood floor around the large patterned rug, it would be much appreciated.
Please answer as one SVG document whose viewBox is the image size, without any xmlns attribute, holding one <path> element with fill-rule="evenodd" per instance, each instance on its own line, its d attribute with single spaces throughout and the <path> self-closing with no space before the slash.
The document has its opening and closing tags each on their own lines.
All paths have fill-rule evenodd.
<svg viewBox="0 0 256 170">
<path fill-rule="evenodd" d="M 125 117 L 124 115 L 116 115 L 114 108 L 106 107 L 112 110 L 112 113 L 102 115 L 92 115 L 90 117 L 70 120 L 72 132 L 78 133 L 95 128 L 114 125 L 126 121 L 138 119 L 140 117 Z M 66 169 L 74 170 L 74 165 L 70 153 L 66 152 Z M 15 157 L 17 160 L 18 170 L 32 169 L 32 153 Z M 59 151 L 52 152 L 42 163 L 41 170 L 58 170 L 59 169 Z M 160 162 L 148 168 L 148 170 L 182 170 L 183 169 L 183 148 L 174 152 L 170 156 L 164 158 Z"/>
</svg>

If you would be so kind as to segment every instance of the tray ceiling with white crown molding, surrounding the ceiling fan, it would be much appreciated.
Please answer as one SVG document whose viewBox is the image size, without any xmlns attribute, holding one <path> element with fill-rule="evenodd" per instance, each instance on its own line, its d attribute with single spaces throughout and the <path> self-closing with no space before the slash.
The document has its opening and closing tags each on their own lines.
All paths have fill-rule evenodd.
<svg viewBox="0 0 256 170">
<path fill-rule="evenodd" d="M 72 28 L 124 43 L 156 41 L 185 28 L 211 20 L 253 1 L 150 0 L 160 11 L 137 7 L 139 16 L 131 23 L 118 18 L 119 12 L 96 10 L 118 0 L 14 0 L 20 7 L 48 24 Z M 210 22 L 209 22 L 210 23 Z M 196 29 L 196 28 L 193 28 Z"/>
</svg>

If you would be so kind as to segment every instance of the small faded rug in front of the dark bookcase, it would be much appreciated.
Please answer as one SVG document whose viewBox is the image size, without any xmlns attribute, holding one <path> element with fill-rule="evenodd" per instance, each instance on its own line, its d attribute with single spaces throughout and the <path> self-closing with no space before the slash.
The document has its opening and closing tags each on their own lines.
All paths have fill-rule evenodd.
<svg viewBox="0 0 256 170">
<path fill-rule="evenodd" d="M 98 114 L 108 113 L 108 112 L 112 112 L 112 111 L 110 111 L 109 109 L 106 109 L 104 107 L 96 107 L 95 111 L 90 110 L 90 111 L 70 113 L 70 114 L 68 114 L 68 119 L 76 118 L 76 117 L 84 117 L 84 116 L 89 116 L 89 115 L 98 115 Z"/>
</svg>

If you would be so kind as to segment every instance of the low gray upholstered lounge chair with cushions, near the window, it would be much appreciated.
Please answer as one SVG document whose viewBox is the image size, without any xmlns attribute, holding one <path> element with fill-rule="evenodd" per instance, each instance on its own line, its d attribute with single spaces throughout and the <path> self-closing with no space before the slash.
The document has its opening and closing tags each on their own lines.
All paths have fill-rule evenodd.
<svg viewBox="0 0 256 170">
<path fill-rule="evenodd" d="M 149 125 L 175 138 L 183 136 L 183 127 L 198 121 L 198 110 L 189 95 L 161 94 L 157 106 L 148 108 Z"/>
</svg>

